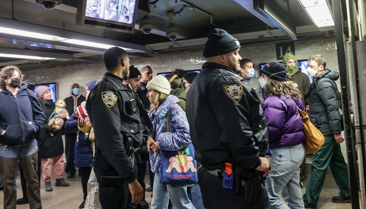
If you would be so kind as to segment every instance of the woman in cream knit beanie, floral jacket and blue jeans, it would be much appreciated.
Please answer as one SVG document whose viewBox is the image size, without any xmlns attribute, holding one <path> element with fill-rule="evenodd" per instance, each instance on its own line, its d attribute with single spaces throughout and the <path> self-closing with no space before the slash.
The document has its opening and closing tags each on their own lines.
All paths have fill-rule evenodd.
<svg viewBox="0 0 366 209">
<path fill-rule="evenodd" d="M 159 168 L 162 152 L 178 151 L 191 143 L 191 135 L 186 113 L 177 104 L 178 97 L 169 95 L 171 87 L 164 76 L 156 76 L 146 85 L 147 95 L 151 103 L 149 117 L 153 124 L 152 138 L 157 143 L 157 148 L 150 149 L 151 171 L 155 173 L 153 199 L 151 209 L 168 208 L 169 198 L 175 208 L 195 209 L 187 195 L 186 185 L 165 185 L 160 183 Z M 169 113 L 169 118 L 168 118 Z M 172 133 L 168 132 L 168 119 Z M 170 196 L 169 194 L 173 194 Z M 179 198 L 178 198 L 179 197 Z"/>
</svg>

